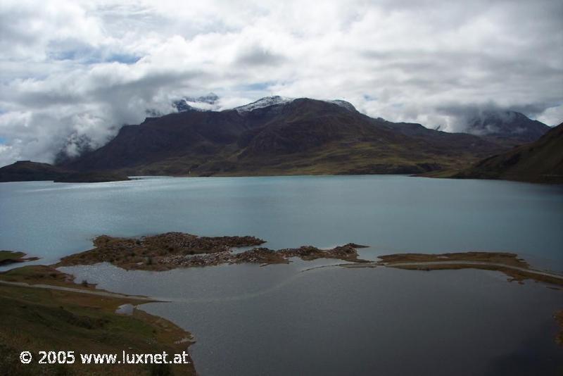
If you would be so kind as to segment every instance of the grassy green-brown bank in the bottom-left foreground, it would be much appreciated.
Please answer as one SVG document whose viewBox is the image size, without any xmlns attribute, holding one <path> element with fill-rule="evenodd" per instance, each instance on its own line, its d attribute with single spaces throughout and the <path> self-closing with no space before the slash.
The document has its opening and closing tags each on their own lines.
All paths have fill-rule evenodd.
<svg viewBox="0 0 563 376">
<path fill-rule="evenodd" d="M 25 275 L 21 273 L 20 275 Z M 24 278 L 25 279 L 25 278 Z M 115 310 L 132 299 L 0 284 L 0 370 L 3 375 L 195 375 L 193 364 L 82 365 L 80 353 L 182 353 L 189 333 L 163 318 Z M 138 303 L 138 302 L 137 302 Z M 22 364 L 21 351 L 34 361 Z M 72 365 L 37 364 L 38 351 L 75 351 Z"/>
</svg>

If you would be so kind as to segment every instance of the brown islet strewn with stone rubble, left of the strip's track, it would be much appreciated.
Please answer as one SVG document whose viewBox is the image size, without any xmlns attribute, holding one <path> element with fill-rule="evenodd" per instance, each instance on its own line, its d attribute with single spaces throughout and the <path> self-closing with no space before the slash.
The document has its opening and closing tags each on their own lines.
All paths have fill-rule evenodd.
<svg viewBox="0 0 563 376">
<path fill-rule="evenodd" d="M 150 237 L 118 238 L 101 235 L 94 239 L 94 249 L 62 258 L 55 266 L 112 263 L 127 270 L 170 270 L 223 263 L 289 263 L 289 258 L 303 260 L 338 258 L 365 262 L 358 258 L 359 244 L 349 243 L 333 249 L 314 246 L 274 251 L 256 247 L 265 241 L 257 237 L 198 237 L 182 232 L 167 232 Z M 234 253 L 234 248 L 255 248 Z"/>
</svg>

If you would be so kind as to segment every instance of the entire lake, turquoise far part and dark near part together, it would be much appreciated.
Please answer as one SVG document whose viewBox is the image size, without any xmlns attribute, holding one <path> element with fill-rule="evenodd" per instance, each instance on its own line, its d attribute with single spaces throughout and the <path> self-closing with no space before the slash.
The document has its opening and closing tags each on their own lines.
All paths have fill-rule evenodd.
<svg viewBox="0 0 563 376">
<path fill-rule="evenodd" d="M 563 271 L 563 188 L 406 176 L 146 178 L 0 184 L 0 249 L 61 256 L 99 234 L 254 235 L 273 249 L 511 251 Z M 313 265 L 126 272 L 63 268 L 99 287 L 170 300 L 142 308 L 194 333 L 202 375 L 555 374 L 561 292 L 500 272 Z"/>
</svg>

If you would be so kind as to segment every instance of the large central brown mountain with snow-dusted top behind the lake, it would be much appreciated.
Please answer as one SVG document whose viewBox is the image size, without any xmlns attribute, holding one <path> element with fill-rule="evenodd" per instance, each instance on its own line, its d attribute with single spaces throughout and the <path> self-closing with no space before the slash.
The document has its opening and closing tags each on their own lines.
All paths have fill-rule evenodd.
<svg viewBox="0 0 563 376">
<path fill-rule="evenodd" d="M 272 96 L 231 110 L 146 118 L 61 167 L 129 175 L 407 174 L 467 167 L 500 150 L 471 134 L 369 118 L 346 101 Z"/>
</svg>

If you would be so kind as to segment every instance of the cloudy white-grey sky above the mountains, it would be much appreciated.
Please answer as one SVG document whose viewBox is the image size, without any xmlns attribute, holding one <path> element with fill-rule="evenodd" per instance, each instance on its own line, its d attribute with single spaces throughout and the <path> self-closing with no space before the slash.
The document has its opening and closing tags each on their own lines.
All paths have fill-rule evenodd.
<svg viewBox="0 0 563 376">
<path fill-rule="evenodd" d="M 96 148 L 147 111 L 344 99 L 462 130 L 486 109 L 563 121 L 563 1 L 0 2 L 0 165 Z"/>
</svg>

